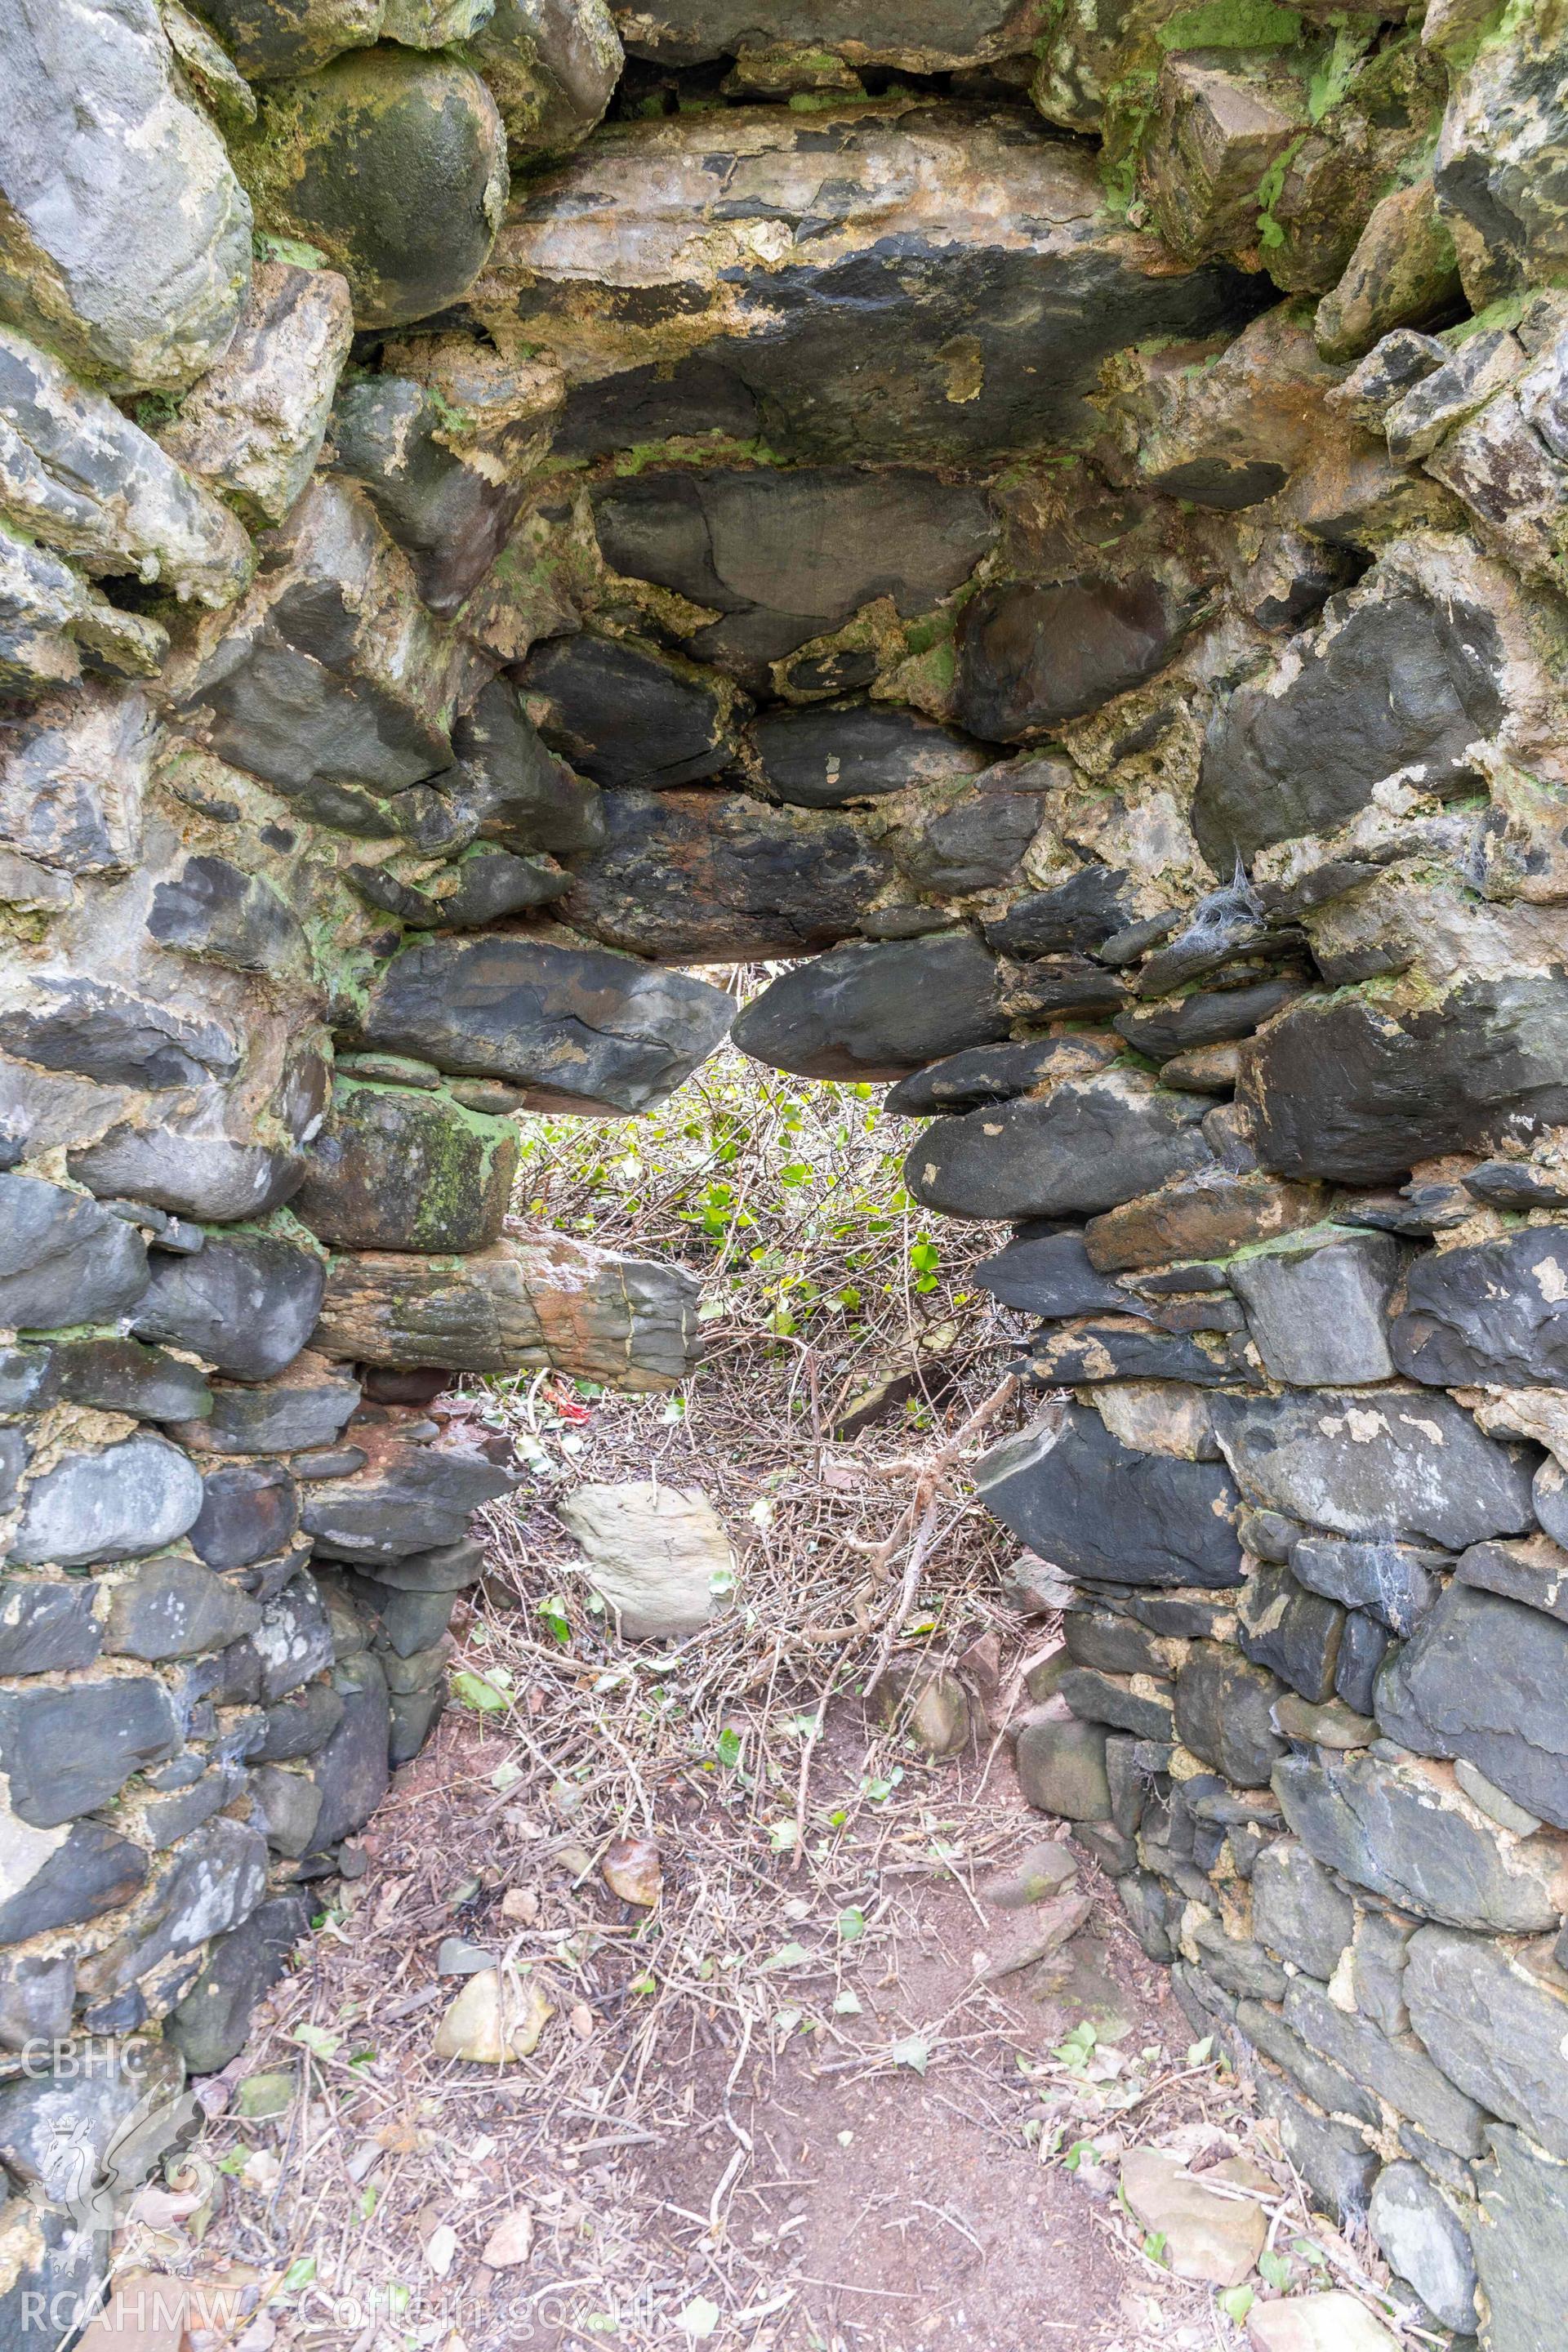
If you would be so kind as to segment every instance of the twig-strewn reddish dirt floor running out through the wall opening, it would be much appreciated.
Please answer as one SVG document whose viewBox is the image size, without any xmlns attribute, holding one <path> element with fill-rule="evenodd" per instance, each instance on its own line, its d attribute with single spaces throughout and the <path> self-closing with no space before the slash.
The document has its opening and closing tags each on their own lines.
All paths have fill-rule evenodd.
<svg viewBox="0 0 1568 2352">
<path fill-rule="evenodd" d="M 990 1237 L 938 1263 L 872 1103 L 729 1061 L 642 1157 L 534 1122 L 529 1211 L 703 1265 L 710 1357 L 675 1397 L 541 1374 L 430 1409 L 524 1479 L 433 1743 L 132 2206 L 122 2277 L 207 2288 L 136 2352 L 1234 2352 L 1253 2293 L 1378 2284 L 1093 1865 L 1051 1844 L 1046 1900 L 997 1900 L 1065 1832 L 1006 1740 L 1058 1625 L 1006 1604 L 966 1484 L 1041 1404 L 969 1287 Z M 715 1503 L 736 1590 L 621 1642 L 557 1505 L 651 1477 Z M 442 2056 L 458 1999 L 503 2063 Z M 1135 2145 L 1267 2166 L 1239 2296 L 1145 2239 Z"/>
</svg>

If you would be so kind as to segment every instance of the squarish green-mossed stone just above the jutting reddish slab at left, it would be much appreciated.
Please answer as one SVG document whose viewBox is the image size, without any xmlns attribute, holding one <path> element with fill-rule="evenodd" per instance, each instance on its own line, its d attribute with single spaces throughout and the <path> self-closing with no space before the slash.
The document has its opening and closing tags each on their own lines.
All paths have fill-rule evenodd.
<svg viewBox="0 0 1568 2352">
<path fill-rule="evenodd" d="M 294 1214 L 334 1249 L 489 1249 L 515 1176 L 508 1120 L 444 1094 L 339 1080 Z"/>
</svg>

